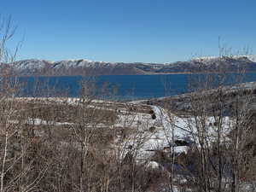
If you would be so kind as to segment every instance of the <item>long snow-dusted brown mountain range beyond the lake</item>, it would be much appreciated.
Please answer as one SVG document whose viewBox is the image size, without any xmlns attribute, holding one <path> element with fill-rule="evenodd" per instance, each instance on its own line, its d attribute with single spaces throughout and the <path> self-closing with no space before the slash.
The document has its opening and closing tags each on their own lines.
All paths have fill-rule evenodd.
<svg viewBox="0 0 256 192">
<path fill-rule="evenodd" d="M 7 64 L 5 64 L 7 65 Z M 236 72 L 245 67 L 248 72 L 256 72 L 256 55 L 232 57 L 201 57 L 190 61 L 173 63 L 124 63 L 89 60 L 44 61 L 24 60 L 8 64 L 20 75 L 125 75 L 157 73 L 200 73 L 225 67 L 228 72 Z"/>
</svg>

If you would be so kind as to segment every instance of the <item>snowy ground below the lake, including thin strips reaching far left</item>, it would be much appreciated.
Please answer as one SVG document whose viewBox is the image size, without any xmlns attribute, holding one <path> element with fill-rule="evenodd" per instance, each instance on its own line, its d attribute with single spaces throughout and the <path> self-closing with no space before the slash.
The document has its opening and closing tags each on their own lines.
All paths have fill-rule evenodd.
<svg viewBox="0 0 256 192">
<path fill-rule="evenodd" d="M 34 98 L 26 98 L 26 101 L 32 99 Z M 79 100 L 77 98 L 40 98 L 39 100 L 79 104 Z M 139 104 L 132 103 L 131 106 L 132 105 L 137 108 L 143 108 L 142 105 Z M 117 107 L 113 106 L 118 106 L 119 112 L 117 114 L 118 119 L 113 123 L 113 125 L 111 125 L 111 127 L 109 127 L 110 125 L 104 125 L 102 123 L 88 126 L 93 126 L 93 128 L 109 127 L 111 129 L 122 128 L 133 130 L 134 132 L 131 133 L 131 135 L 126 136 L 123 142 L 126 146 L 131 145 L 133 148 L 139 148 L 139 159 L 147 159 L 148 156 L 152 155 L 152 151 L 163 150 L 166 147 L 174 147 L 174 150 L 177 153 L 186 153 L 188 147 L 177 146 L 175 141 L 185 141 L 189 145 L 196 142 L 194 136 L 197 133 L 196 127 L 198 127 L 198 125 L 195 124 L 195 119 L 177 117 L 172 113 L 167 113 L 165 109 L 158 106 L 150 106 L 156 116 L 155 119 L 152 118 L 152 114 L 150 113 L 131 112 L 128 108 L 125 108 L 125 104 L 122 103 L 95 100 L 92 104 L 88 105 L 88 108 L 116 110 Z M 216 137 L 216 127 L 213 126 L 214 122 L 215 119 L 213 117 L 209 117 L 207 119 L 207 132 L 209 139 L 214 139 L 214 137 Z M 73 123 L 46 121 L 44 119 L 27 119 L 26 123 L 29 125 L 74 125 Z M 230 119 L 224 118 L 224 136 L 229 133 L 229 126 Z M 150 131 L 150 128 L 152 127 L 155 128 L 154 131 Z"/>
</svg>

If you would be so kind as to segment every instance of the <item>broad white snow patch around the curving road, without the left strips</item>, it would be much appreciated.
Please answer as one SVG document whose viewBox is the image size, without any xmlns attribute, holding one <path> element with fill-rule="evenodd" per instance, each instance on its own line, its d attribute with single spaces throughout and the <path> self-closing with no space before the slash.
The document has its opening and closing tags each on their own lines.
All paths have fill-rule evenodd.
<svg viewBox="0 0 256 192">
<path fill-rule="evenodd" d="M 130 137 L 127 143 L 136 146 L 139 143 L 138 138 L 143 137 L 143 143 L 140 143 L 139 158 L 147 159 L 152 154 L 152 151 L 163 150 L 166 147 L 174 147 L 174 151 L 177 154 L 182 152 L 186 153 L 188 146 L 177 146 L 175 141 L 185 141 L 192 146 L 197 141 L 197 127 L 201 125 L 195 123 L 195 118 L 180 118 L 174 114 L 168 114 L 163 108 L 157 106 L 151 106 L 156 115 L 156 119 L 152 119 L 151 115 L 143 113 L 131 114 L 131 116 L 124 117 L 119 115 L 118 126 L 138 128 L 142 132 L 140 137 Z M 170 119 L 169 115 L 172 116 Z M 138 124 L 139 122 L 139 124 Z M 207 139 L 213 141 L 217 137 L 217 127 L 214 126 L 215 119 L 208 117 L 206 120 Z M 222 123 L 222 137 L 221 139 L 227 139 L 231 120 L 228 117 L 224 117 Z M 156 129 L 154 132 L 149 132 L 148 128 L 154 126 Z"/>
</svg>

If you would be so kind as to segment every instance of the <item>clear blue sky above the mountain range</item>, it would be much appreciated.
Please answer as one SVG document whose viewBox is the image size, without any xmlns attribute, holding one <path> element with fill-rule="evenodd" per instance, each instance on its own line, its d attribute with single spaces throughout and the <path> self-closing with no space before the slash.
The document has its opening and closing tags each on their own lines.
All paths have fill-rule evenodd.
<svg viewBox="0 0 256 192">
<path fill-rule="evenodd" d="M 256 50 L 255 0 L 3 0 L 24 36 L 19 59 L 184 61 L 218 55 L 218 36 Z"/>
</svg>

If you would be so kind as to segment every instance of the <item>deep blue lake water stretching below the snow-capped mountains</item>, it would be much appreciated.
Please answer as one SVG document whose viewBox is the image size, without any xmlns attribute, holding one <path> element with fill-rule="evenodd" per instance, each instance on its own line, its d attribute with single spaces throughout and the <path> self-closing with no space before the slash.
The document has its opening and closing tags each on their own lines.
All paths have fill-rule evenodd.
<svg viewBox="0 0 256 192">
<path fill-rule="evenodd" d="M 193 75 L 192 75 L 193 76 Z M 233 76 L 230 75 L 227 84 L 232 84 Z M 90 90 L 95 90 L 96 96 L 105 96 L 108 91 L 114 92 L 118 99 L 144 99 L 161 96 L 174 96 L 188 90 L 189 74 L 160 74 L 160 75 L 103 75 L 94 79 L 81 76 L 63 77 L 26 77 L 20 82 L 26 84 L 21 96 L 79 96 L 81 81 L 87 84 L 96 84 Z M 256 73 L 247 73 L 244 82 L 256 80 Z M 96 82 L 96 83 L 95 83 Z M 108 95 L 108 96 L 110 96 Z"/>
</svg>

